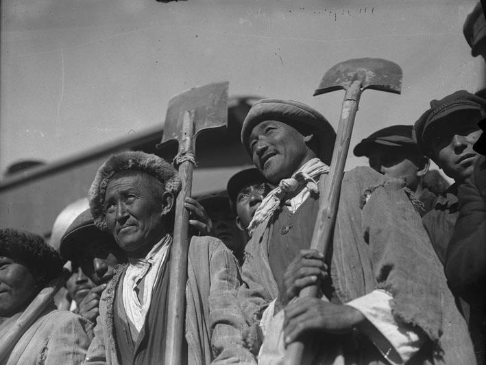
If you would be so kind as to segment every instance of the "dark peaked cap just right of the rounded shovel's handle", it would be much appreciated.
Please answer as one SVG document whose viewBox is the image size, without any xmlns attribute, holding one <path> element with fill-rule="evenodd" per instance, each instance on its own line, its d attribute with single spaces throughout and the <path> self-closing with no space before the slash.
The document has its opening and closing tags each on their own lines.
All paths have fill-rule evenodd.
<svg viewBox="0 0 486 365">
<path fill-rule="evenodd" d="M 368 156 L 374 147 L 415 148 L 418 152 L 417 142 L 413 138 L 413 126 L 398 125 L 377 130 L 356 145 L 354 156 Z"/>
</svg>

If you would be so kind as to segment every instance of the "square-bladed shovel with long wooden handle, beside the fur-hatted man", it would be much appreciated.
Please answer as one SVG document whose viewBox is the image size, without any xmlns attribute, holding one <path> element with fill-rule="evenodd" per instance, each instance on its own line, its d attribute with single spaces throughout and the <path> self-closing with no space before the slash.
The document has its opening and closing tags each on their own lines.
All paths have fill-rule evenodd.
<svg viewBox="0 0 486 365">
<path fill-rule="evenodd" d="M 228 82 L 199 86 L 169 100 L 164 134 L 158 149 L 179 143 L 174 158 L 182 189 L 175 201 L 175 222 L 171 248 L 169 309 L 164 364 L 182 364 L 184 341 L 184 294 L 189 252 L 189 212 L 184 208 L 191 195 L 195 165 L 195 139 L 199 133 L 224 128 L 228 120 Z"/>
</svg>

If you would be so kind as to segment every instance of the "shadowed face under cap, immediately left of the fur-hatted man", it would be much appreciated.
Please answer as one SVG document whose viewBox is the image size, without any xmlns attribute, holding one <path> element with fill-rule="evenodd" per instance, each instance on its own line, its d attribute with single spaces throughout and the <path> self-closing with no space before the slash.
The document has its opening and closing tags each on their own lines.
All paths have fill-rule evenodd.
<svg viewBox="0 0 486 365">
<path fill-rule="evenodd" d="M 84 242 L 75 247 L 77 264 L 96 285 L 108 283 L 114 275 L 114 267 L 127 261 L 125 252 L 101 233 L 83 239 Z"/>
</svg>

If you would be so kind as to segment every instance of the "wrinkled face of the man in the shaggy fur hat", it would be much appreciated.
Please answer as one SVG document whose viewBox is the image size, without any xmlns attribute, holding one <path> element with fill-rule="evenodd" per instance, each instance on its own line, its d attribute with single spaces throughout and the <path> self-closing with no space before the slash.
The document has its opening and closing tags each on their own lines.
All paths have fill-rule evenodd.
<svg viewBox="0 0 486 365">
<path fill-rule="evenodd" d="M 158 194 L 163 186 L 141 172 L 116 174 L 105 196 L 106 222 L 118 246 L 124 251 L 145 250 L 165 234 L 163 217 L 172 207 L 172 194 Z"/>
</svg>

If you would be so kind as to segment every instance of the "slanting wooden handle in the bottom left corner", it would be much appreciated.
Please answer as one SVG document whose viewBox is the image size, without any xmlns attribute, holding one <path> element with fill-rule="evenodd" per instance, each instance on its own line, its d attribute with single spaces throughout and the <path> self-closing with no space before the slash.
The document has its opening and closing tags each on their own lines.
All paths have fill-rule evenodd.
<svg viewBox="0 0 486 365">
<path fill-rule="evenodd" d="M 47 305 L 51 303 L 54 295 L 66 283 L 68 278 L 69 274 L 64 272 L 60 277 L 53 279 L 46 287 L 40 290 L 34 300 L 25 308 L 15 325 L 8 330 L 0 341 L 0 363 L 5 360 L 5 357 L 12 351 L 25 331 L 39 318 Z"/>
</svg>

